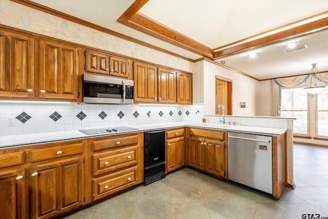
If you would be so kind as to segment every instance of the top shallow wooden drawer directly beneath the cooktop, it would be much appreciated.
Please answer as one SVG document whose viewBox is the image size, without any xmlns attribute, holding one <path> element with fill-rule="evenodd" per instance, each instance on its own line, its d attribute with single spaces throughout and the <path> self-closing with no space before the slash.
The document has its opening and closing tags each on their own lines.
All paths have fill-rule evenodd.
<svg viewBox="0 0 328 219">
<path fill-rule="evenodd" d="M 136 145 L 138 144 L 138 135 L 126 136 L 126 137 L 116 137 L 107 140 L 99 140 L 92 142 L 92 150 L 103 150 L 107 148 L 114 148 L 126 145 Z"/>
</svg>

